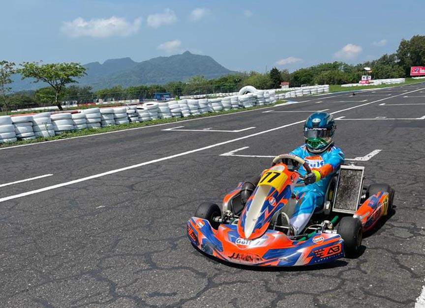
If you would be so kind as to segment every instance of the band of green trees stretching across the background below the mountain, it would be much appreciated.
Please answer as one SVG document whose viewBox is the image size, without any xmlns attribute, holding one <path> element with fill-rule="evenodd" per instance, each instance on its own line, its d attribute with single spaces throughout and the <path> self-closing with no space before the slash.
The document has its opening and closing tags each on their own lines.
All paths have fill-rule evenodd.
<svg viewBox="0 0 425 308">
<path fill-rule="evenodd" d="M 410 40 L 402 39 L 394 54 L 386 54 L 376 60 L 359 64 L 331 62 L 298 69 L 292 73 L 273 67 L 270 72 L 237 73 L 217 79 L 194 76 L 185 82 L 122 87 L 120 85 L 93 91 L 91 86 L 75 85 L 76 79 L 86 74 L 79 63 L 42 64 L 24 62 L 15 68 L 12 62 L 0 62 L 0 98 L 2 109 L 34 107 L 40 104 L 56 104 L 61 101 L 88 103 L 94 100 L 151 99 L 155 92 L 170 92 L 171 95 L 196 95 L 216 92 L 236 92 L 244 85 L 259 89 L 279 88 L 281 82 L 290 86 L 312 84 L 357 83 L 364 74 L 364 67 L 372 68 L 372 79 L 402 78 L 410 75 L 411 66 L 425 65 L 425 36 L 415 35 Z M 20 73 L 22 78 L 34 78 L 48 87 L 36 91 L 10 93 L 10 76 Z"/>
</svg>

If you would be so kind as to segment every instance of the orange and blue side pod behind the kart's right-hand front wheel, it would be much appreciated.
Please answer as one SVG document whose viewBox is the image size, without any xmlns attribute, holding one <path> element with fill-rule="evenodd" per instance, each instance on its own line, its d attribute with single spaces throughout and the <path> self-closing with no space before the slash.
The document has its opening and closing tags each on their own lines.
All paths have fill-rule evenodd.
<svg viewBox="0 0 425 308">
<path fill-rule="evenodd" d="M 370 196 L 354 214 L 363 224 L 363 232 L 370 230 L 376 222 L 388 213 L 388 193 L 379 192 Z"/>
</svg>

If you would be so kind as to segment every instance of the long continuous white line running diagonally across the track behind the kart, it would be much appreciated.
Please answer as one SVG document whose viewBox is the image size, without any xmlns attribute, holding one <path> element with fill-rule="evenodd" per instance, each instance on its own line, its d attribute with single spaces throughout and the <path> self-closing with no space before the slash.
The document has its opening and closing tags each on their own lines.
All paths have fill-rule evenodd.
<svg viewBox="0 0 425 308">
<path fill-rule="evenodd" d="M 416 92 L 416 91 L 419 91 L 419 90 L 425 90 L 425 88 L 417 89 L 417 90 L 414 90 L 412 92 Z M 404 95 L 404 94 L 400 94 L 400 95 Z M 395 95 L 395 96 L 392 96 L 392 97 L 382 98 L 382 99 L 377 100 L 377 101 L 365 103 L 365 104 L 362 104 L 362 105 L 353 106 L 353 107 L 350 107 L 350 108 L 341 109 L 341 110 L 338 110 L 338 111 L 331 112 L 331 114 L 335 114 L 335 113 L 339 113 L 339 112 L 345 112 L 345 111 L 348 111 L 348 110 L 353 110 L 353 109 L 356 109 L 356 108 L 364 107 L 364 106 L 367 106 L 367 105 L 370 105 L 370 104 L 373 104 L 373 103 L 377 103 L 377 102 L 381 102 L 381 101 L 384 101 L 384 100 L 387 100 L 387 99 L 390 99 L 390 98 L 394 98 L 396 96 L 398 96 L 398 95 Z M 154 159 L 152 161 L 144 162 L 144 163 L 141 163 L 141 164 L 136 164 L 136 165 L 132 165 L 132 166 L 124 167 L 124 168 L 119 168 L 119 169 L 115 169 L 115 170 L 102 172 L 102 173 L 99 173 L 99 174 L 94 174 L 94 175 L 83 177 L 83 178 L 76 179 L 76 180 L 73 180 L 73 181 L 64 182 L 64 183 L 44 187 L 44 188 L 41 188 L 41 189 L 36 189 L 36 190 L 29 191 L 29 192 L 26 192 L 26 193 L 18 194 L 18 195 L 3 197 L 3 198 L 0 198 L 0 202 L 12 200 L 12 199 L 16 199 L 16 198 L 20 198 L 20 197 L 24 197 L 24 196 L 30 196 L 30 195 L 46 192 L 46 191 L 49 191 L 49 190 L 53 190 L 53 189 L 56 189 L 56 188 L 60 188 L 60 187 L 69 186 L 69 185 L 72 185 L 72 184 L 88 181 L 88 180 L 95 179 L 95 178 L 98 178 L 98 177 L 102 177 L 102 176 L 105 176 L 105 175 L 110 175 L 110 174 L 118 173 L 118 172 L 121 172 L 121 171 L 139 168 L 139 167 L 151 165 L 151 164 L 154 164 L 154 163 L 159 163 L 159 162 L 170 160 L 170 159 L 173 159 L 173 158 L 176 158 L 176 157 L 181 157 L 181 156 L 184 156 L 184 155 L 188 155 L 188 154 L 212 149 L 212 148 L 220 146 L 220 145 L 224 145 L 224 144 L 248 139 L 248 138 L 251 138 L 251 137 L 267 134 L 267 133 L 270 133 L 270 132 L 273 132 L 273 131 L 276 131 L 276 130 L 279 130 L 279 129 L 282 129 L 282 128 L 294 126 L 294 125 L 301 124 L 301 123 L 304 123 L 304 122 L 305 122 L 304 120 L 297 121 L 297 122 L 289 123 L 289 124 L 282 125 L 282 126 L 279 126 L 279 127 L 271 128 L 271 129 L 268 129 L 268 130 L 265 130 L 265 131 L 261 131 L 261 132 L 258 132 L 258 133 L 254 133 L 254 134 L 251 134 L 251 135 L 247 135 L 247 136 L 243 136 L 243 137 L 239 137 L 239 138 L 235 138 L 235 139 L 231 139 L 231 140 L 227 140 L 227 141 L 222 141 L 222 142 L 214 143 L 214 144 L 207 145 L 207 146 L 204 146 L 204 147 L 201 147 L 201 148 L 197 148 L 197 149 L 194 149 L 194 150 L 190 150 L 190 151 L 186 151 L 186 152 L 182 152 L 182 153 L 178 153 L 178 154 Z"/>
</svg>

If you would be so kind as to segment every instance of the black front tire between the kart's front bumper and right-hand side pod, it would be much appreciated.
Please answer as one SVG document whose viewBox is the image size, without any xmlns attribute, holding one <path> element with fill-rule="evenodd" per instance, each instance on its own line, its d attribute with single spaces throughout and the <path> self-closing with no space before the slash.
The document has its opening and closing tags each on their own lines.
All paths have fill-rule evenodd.
<svg viewBox="0 0 425 308">
<path fill-rule="evenodd" d="M 360 219 L 343 217 L 338 224 L 337 233 L 344 240 L 345 256 L 349 258 L 358 256 L 363 237 Z"/>
</svg>

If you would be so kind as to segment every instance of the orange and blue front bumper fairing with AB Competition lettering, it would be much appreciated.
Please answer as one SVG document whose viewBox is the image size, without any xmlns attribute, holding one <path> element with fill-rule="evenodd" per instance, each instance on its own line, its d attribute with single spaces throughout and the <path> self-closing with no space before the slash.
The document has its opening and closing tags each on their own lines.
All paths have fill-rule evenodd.
<svg viewBox="0 0 425 308">
<path fill-rule="evenodd" d="M 256 266 L 300 266 L 329 262 L 344 256 L 338 234 L 317 233 L 306 241 L 292 241 L 285 234 L 267 230 L 250 240 L 240 237 L 236 224 L 212 229 L 207 220 L 192 217 L 188 237 L 203 252 L 221 260 Z"/>
</svg>

